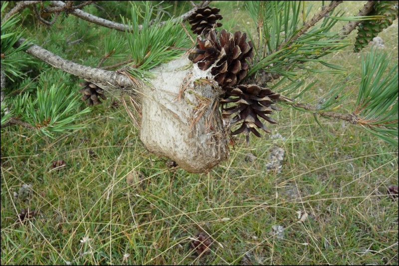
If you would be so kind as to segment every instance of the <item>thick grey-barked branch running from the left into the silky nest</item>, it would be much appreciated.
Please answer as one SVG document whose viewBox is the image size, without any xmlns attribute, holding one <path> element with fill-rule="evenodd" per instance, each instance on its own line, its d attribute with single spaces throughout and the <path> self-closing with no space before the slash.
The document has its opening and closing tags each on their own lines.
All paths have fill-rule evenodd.
<svg viewBox="0 0 399 266">
<path fill-rule="evenodd" d="M 15 48 L 19 47 L 23 38 L 20 38 L 14 45 Z M 122 89 L 133 88 L 137 89 L 138 85 L 132 83 L 131 79 L 125 75 L 113 71 L 106 71 L 97 68 L 91 68 L 80 64 L 73 63 L 69 60 L 63 59 L 50 51 L 41 48 L 38 45 L 30 43 L 31 46 L 25 50 L 26 53 L 33 55 L 41 61 L 60 69 L 69 74 L 87 79 L 94 84 L 98 84 L 101 88 L 108 89 Z"/>
</svg>

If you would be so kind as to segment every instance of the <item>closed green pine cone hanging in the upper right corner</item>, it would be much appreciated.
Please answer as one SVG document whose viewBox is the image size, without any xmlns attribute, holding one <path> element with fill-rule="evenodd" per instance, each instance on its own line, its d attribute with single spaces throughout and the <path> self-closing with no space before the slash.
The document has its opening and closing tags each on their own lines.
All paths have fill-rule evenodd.
<svg viewBox="0 0 399 266">
<path fill-rule="evenodd" d="M 376 1 L 374 9 L 367 15 L 384 15 L 385 18 L 379 20 L 364 20 L 359 24 L 358 35 L 356 36 L 354 52 L 357 53 L 365 48 L 378 33 L 392 25 L 398 16 L 398 8 L 395 8 L 397 1 Z"/>
</svg>

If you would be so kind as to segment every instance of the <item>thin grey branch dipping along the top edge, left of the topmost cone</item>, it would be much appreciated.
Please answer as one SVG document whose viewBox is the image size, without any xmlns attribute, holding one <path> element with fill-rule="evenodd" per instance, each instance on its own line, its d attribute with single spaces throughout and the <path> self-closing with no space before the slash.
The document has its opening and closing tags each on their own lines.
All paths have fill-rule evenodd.
<svg viewBox="0 0 399 266">
<path fill-rule="evenodd" d="M 187 13 L 184 13 L 184 14 L 181 15 L 180 17 L 174 18 L 173 21 L 174 21 L 174 22 L 178 22 L 180 19 L 183 19 L 183 21 L 189 19 L 189 17 L 190 17 L 198 8 L 203 7 L 203 6 L 206 6 L 209 2 L 210 2 L 210 1 L 202 1 L 202 2 L 200 2 L 200 4 L 198 4 L 196 7 L 194 7 L 193 9 L 191 9 L 190 11 L 188 11 Z M 65 6 L 65 3 L 62 2 L 62 1 L 51 1 L 50 5 L 54 5 L 54 6 L 62 7 L 62 8 L 63 8 L 63 7 Z M 50 10 L 52 10 L 52 9 L 49 9 L 49 8 L 46 9 L 47 12 L 50 12 Z M 57 11 L 58 11 L 58 10 L 61 10 L 61 9 L 58 8 L 58 9 L 54 9 L 54 10 L 57 10 Z M 125 25 L 124 25 L 124 24 L 117 23 L 117 22 L 113 22 L 113 21 L 110 21 L 110 20 L 107 20 L 107 19 L 104 19 L 104 18 L 100 18 L 100 17 L 94 16 L 94 15 L 89 14 L 89 13 L 86 13 L 86 12 L 80 10 L 80 9 L 74 9 L 74 10 L 69 11 L 69 12 L 70 12 L 71 14 L 73 14 L 73 15 L 75 15 L 75 16 L 81 18 L 81 19 L 87 20 L 87 21 L 92 22 L 92 23 L 94 23 L 94 24 L 97 24 L 97 25 L 100 25 L 100 26 L 103 26 L 103 27 L 107 27 L 107 28 L 110 28 L 110 29 L 115 29 L 115 30 L 118 30 L 118 31 L 123 31 L 123 32 L 125 31 Z M 156 21 L 156 20 L 153 19 L 151 24 L 153 24 L 155 21 Z M 162 22 L 160 22 L 159 24 L 160 24 L 160 25 L 163 25 L 164 23 L 165 23 L 165 22 L 162 21 Z M 139 25 L 139 30 L 141 30 L 142 28 L 143 28 L 143 26 L 142 26 L 142 25 Z M 129 29 L 129 32 L 132 31 L 132 30 L 133 30 L 133 27 L 131 27 L 131 28 Z"/>
</svg>

